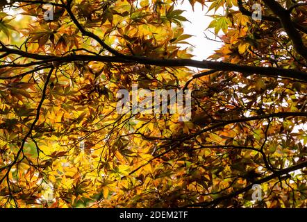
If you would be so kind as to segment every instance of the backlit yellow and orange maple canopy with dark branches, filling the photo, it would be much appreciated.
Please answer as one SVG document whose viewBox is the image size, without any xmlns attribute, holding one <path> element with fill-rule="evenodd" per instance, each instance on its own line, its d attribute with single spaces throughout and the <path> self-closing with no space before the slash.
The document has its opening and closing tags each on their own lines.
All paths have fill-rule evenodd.
<svg viewBox="0 0 307 222">
<path fill-rule="evenodd" d="M 201 61 L 181 0 L 0 1 L 1 207 L 307 207 L 306 1 L 189 2 Z M 134 84 L 191 118 L 117 112 Z"/>
</svg>

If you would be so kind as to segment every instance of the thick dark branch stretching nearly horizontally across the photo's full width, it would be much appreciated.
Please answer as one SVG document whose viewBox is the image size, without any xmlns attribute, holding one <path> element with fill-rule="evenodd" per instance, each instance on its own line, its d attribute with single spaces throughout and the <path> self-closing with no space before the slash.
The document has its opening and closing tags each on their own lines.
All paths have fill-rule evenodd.
<svg viewBox="0 0 307 222">
<path fill-rule="evenodd" d="M 215 71 L 238 71 L 242 74 L 258 74 L 260 76 L 279 76 L 296 78 L 307 81 L 307 74 L 304 71 L 295 69 L 281 69 L 275 67 L 254 67 L 249 65 L 236 65 L 228 62 L 213 62 L 208 60 L 190 60 L 190 59 L 154 59 L 140 56 L 92 56 L 92 55 L 69 55 L 69 56 L 47 56 L 34 53 L 27 53 L 17 49 L 0 49 L 0 52 L 17 54 L 24 58 L 32 58 L 35 60 L 44 60 L 45 62 L 57 61 L 60 63 L 76 62 L 76 61 L 96 61 L 96 62 L 117 62 L 117 63 L 140 63 L 144 65 L 156 65 L 160 67 L 197 67 L 201 69 L 215 69 Z"/>
</svg>

